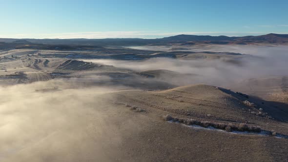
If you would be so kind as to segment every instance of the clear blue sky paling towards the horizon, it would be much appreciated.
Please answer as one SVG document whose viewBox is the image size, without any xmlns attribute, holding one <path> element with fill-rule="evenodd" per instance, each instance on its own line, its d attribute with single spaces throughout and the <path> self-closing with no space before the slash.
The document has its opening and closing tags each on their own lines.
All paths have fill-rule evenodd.
<svg viewBox="0 0 288 162">
<path fill-rule="evenodd" d="M 288 34 L 288 0 L 0 0 L 0 38 Z"/>
</svg>

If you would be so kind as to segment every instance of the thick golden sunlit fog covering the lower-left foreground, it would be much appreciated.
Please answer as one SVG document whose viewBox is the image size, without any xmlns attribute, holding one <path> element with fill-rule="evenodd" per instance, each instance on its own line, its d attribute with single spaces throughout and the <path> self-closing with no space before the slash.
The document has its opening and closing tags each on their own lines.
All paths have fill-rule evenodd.
<svg viewBox="0 0 288 162">
<path fill-rule="evenodd" d="M 52 80 L 0 87 L 1 162 L 113 160 L 113 150 L 104 142 L 116 148 L 122 128 L 107 125 L 113 100 L 106 96 L 104 101 L 103 94 L 117 87 L 62 89 L 64 84 Z M 36 91 L 54 85 L 60 89 Z"/>
</svg>

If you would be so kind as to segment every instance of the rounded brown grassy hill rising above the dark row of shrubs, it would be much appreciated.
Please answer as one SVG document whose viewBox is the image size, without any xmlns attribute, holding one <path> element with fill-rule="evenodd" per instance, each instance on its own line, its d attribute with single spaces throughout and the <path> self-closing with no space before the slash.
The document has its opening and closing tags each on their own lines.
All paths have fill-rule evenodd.
<svg viewBox="0 0 288 162">
<path fill-rule="evenodd" d="M 284 120 L 287 108 L 275 108 L 266 101 L 205 84 L 195 84 L 165 91 L 117 92 L 122 102 L 147 107 L 151 111 L 173 113 L 191 118 L 217 121 L 249 122 Z M 254 103 L 247 105 L 247 103 Z"/>
</svg>

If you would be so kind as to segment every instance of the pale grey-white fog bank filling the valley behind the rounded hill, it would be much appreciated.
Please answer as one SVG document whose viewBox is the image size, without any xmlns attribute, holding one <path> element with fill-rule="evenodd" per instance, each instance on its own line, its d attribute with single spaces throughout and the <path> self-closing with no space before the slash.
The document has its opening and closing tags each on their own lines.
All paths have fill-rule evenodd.
<svg viewBox="0 0 288 162">
<path fill-rule="evenodd" d="M 153 48 L 156 48 L 155 46 Z M 262 47 L 262 46 L 241 46 L 225 47 L 225 51 L 234 49 L 232 52 L 245 53 L 240 58 L 212 59 L 169 59 L 153 58 L 142 61 L 122 60 L 86 60 L 94 63 L 113 65 L 118 68 L 132 71 L 146 70 L 171 70 L 187 75 L 183 78 L 167 78 L 165 81 L 176 85 L 191 83 L 206 83 L 217 86 L 228 86 L 235 82 L 250 78 L 266 77 L 270 75 L 288 75 L 288 47 Z M 224 49 L 224 47 L 223 47 Z M 165 74 L 163 74 L 165 75 Z M 168 77 L 168 76 L 167 76 Z M 165 76 L 163 77 L 165 78 Z"/>
</svg>

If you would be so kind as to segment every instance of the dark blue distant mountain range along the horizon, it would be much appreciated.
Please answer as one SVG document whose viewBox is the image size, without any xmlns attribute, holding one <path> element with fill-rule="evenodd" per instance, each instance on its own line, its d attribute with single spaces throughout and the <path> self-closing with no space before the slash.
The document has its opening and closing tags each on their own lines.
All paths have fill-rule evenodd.
<svg viewBox="0 0 288 162">
<path fill-rule="evenodd" d="M 179 43 L 180 45 L 192 45 L 195 43 L 211 44 L 288 44 L 288 34 L 267 34 L 261 36 L 227 37 L 227 36 L 197 36 L 177 35 L 161 39 L 139 39 L 139 38 L 116 38 L 116 39 L 5 39 L 0 42 L 7 43 L 40 43 L 40 44 L 77 44 L 77 45 L 164 45 Z"/>
</svg>

